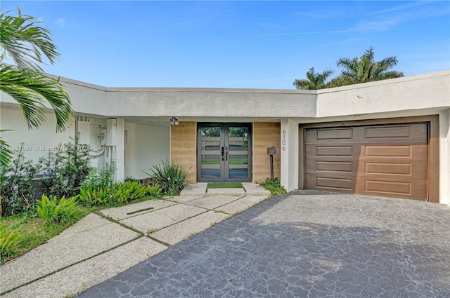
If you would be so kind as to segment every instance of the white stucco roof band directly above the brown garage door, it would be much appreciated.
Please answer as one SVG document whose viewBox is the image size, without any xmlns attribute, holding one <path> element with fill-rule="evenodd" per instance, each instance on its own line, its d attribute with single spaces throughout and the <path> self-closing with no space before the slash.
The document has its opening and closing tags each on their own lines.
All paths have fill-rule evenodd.
<svg viewBox="0 0 450 298">
<path fill-rule="evenodd" d="M 450 105 L 449 72 L 361 83 L 317 91 L 316 117 L 437 109 Z M 316 121 L 321 121 L 316 119 Z"/>
</svg>

